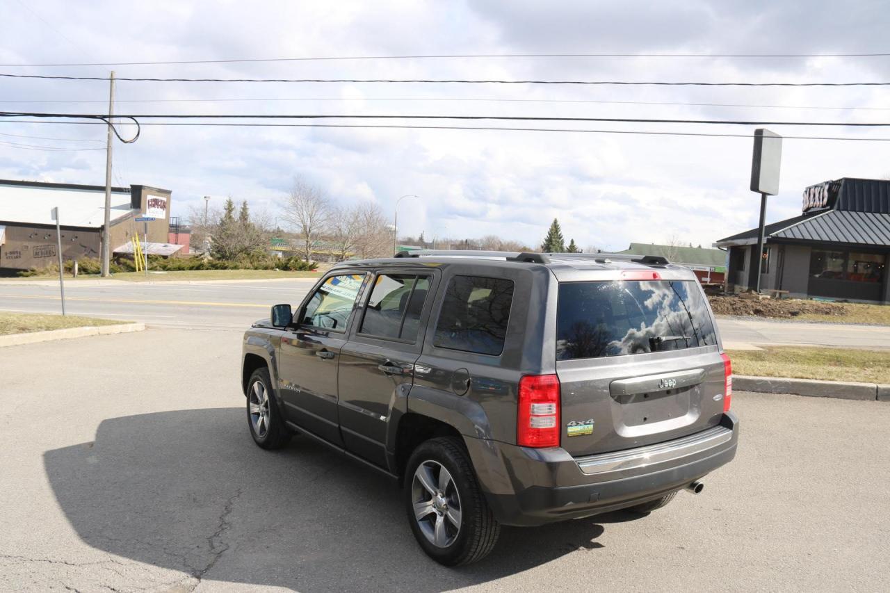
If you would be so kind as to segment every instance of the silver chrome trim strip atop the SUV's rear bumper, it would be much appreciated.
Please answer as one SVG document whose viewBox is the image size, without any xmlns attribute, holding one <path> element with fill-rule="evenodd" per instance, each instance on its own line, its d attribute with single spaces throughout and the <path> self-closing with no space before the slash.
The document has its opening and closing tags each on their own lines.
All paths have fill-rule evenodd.
<svg viewBox="0 0 890 593">
<path fill-rule="evenodd" d="M 724 443 L 732 441 L 732 430 L 725 426 L 714 426 L 698 435 L 684 436 L 683 438 L 631 449 L 629 451 L 617 451 L 603 453 L 602 455 L 590 455 L 575 459 L 581 471 L 587 475 L 604 474 L 606 472 L 635 467 L 646 467 L 682 459 L 701 451 L 708 451 Z"/>
</svg>

